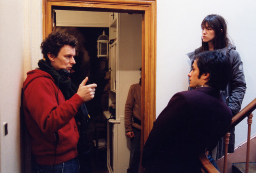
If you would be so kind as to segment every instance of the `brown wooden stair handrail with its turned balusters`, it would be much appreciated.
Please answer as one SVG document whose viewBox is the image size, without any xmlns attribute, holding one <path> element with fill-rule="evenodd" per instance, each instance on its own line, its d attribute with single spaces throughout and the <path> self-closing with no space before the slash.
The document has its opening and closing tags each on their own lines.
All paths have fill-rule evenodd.
<svg viewBox="0 0 256 173">
<path fill-rule="evenodd" d="M 225 133 L 228 133 L 229 130 L 233 127 L 235 127 L 237 124 L 239 124 L 245 117 L 248 117 L 248 145 L 247 145 L 247 151 L 246 151 L 246 172 L 248 172 L 248 167 L 249 167 L 249 153 L 250 153 L 250 136 L 251 136 L 251 123 L 252 123 L 252 112 L 256 109 L 256 98 L 251 101 L 248 105 L 246 105 L 246 107 L 244 107 L 239 113 L 237 113 L 231 121 L 230 126 L 227 128 L 227 130 L 225 131 Z M 225 134 L 224 133 L 224 134 Z M 228 134 L 227 134 L 228 136 Z M 227 142 L 225 142 L 227 143 Z M 228 143 L 227 143 L 228 144 Z M 227 145 L 226 145 L 227 147 Z M 224 169 L 223 172 L 226 172 L 226 155 L 227 155 L 227 148 L 225 147 L 225 156 L 224 156 Z M 206 159 L 206 152 L 202 152 L 199 156 L 199 159 L 202 163 L 203 169 L 206 172 L 209 173 L 215 173 L 215 172 L 219 172 L 217 171 L 217 169 L 211 164 L 210 161 L 207 161 Z M 209 162 L 211 164 L 211 166 L 209 165 Z"/>
</svg>

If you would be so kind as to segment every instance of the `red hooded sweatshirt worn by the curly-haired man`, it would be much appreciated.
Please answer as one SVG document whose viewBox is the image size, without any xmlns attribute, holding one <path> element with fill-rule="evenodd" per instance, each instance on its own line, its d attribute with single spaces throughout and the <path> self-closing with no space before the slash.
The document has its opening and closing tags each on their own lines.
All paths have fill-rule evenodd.
<svg viewBox="0 0 256 173">
<path fill-rule="evenodd" d="M 82 98 L 74 94 L 66 101 L 52 76 L 42 70 L 27 73 L 23 91 L 25 121 L 35 161 L 53 165 L 76 157 L 79 133 L 74 115 Z"/>
</svg>

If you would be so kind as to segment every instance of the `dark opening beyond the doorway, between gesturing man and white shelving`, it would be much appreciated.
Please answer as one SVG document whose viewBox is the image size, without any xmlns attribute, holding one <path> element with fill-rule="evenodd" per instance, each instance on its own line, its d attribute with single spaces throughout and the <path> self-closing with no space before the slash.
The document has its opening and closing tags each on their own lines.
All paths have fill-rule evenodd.
<svg viewBox="0 0 256 173">
<path fill-rule="evenodd" d="M 65 12 L 71 15 L 73 11 Z M 90 119 L 86 123 L 86 130 L 83 131 L 83 135 L 86 134 L 86 139 L 83 140 L 82 145 L 78 144 L 80 172 L 109 173 L 107 168 L 107 119 L 103 115 L 103 111 L 108 110 L 108 90 L 106 89 L 108 57 L 97 57 L 98 37 L 103 31 L 109 35 L 109 28 L 58 26 L 58 15 L 59 13 L 56 11 L 57 25 L 54 30 L 73 35 L 78 40 L 74 57 L 76 63 L 70 74 L 72 83 L 78 88 L 82 80 L 88 76 L 87 84 L 97 84 L 95 97 L 86 102 Z"/>
</svg>

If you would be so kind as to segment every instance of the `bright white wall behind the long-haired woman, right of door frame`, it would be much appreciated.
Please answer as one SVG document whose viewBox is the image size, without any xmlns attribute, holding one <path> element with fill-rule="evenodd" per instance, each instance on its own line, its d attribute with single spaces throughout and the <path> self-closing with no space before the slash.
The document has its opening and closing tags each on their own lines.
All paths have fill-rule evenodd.
<svg viewBox="0 0 256 173">
<path fill-rule="evenodd" d="M 228 33 L 243 61 L 247 90 L 242 108 L 256 96 L 254 58 L 256 39 L 256 1 L 157 1 L 157 91 L 156 116 L 176 92 L 187 90 L 188 57 L 201 45 L 201 22 L 208 14 L 222 15 Z M 255 111 L 254 111 L 255 113 Z M 252 134 L 256 133 L 256 119 Z M 246 121 L 236 127 L 235 145 L 246 139 Z"/>
</svg>

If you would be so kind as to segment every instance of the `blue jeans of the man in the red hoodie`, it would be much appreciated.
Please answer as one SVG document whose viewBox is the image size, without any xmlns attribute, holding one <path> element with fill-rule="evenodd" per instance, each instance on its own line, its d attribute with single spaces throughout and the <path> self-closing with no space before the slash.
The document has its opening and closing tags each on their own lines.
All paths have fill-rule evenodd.
<svg viewBox="0 0 256 173">
<path fill-rule="evenodd" d="M 79 163 L 77 158 L 65 161 L 57 165 L 40 165 L 34 163 L 33 173 L 78 173 Z"/>
</svg>

